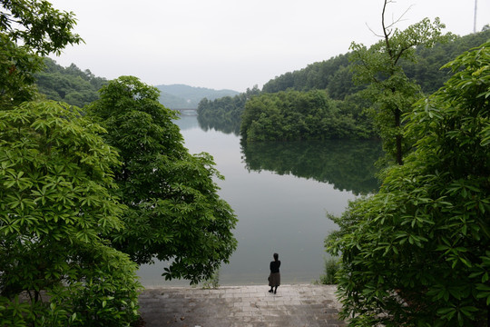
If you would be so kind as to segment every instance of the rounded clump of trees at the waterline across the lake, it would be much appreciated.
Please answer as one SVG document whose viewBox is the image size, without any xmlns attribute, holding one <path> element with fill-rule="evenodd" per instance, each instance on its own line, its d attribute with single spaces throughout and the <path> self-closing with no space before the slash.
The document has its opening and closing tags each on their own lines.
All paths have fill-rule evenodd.
<svg viewBox="0 0 490 327">
<path fill-rule="evenodd" d="M 319 90 L 261 94 L 245 104 L 240 134 L 247 142 L 374 137 L 368 119 L 355 109 Z"/>
</svg>

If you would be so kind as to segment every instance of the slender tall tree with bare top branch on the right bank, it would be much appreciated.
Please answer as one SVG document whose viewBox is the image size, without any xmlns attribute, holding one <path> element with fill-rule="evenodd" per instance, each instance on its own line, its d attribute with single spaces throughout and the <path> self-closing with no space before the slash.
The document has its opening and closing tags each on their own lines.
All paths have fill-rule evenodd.
<svg viewBox="0 0 490 327">
<path fill-rule="evenodd" d="M 354 62 L 355 79 L 368 84 L 365 94 L 372 100 L 377 130 L 383 139 L 384 150 L 391 154 L 397 164 L 403 164 L 403 156 L 412 142 L 403 139 L 402 115 L 420 98 L 420 86 L 410 81 L 401 66 L 402 60 L 416 61 L 416 46 L 432 47 L 444 42 L 441 30 L 445 25 L 436 18 L 434 23 L 425 18 L 410 25 L 405 31 L 387 25 L 385 15 L 390 0 L 385 0 L 381 15 L 382 40 L 367 48 L 352 43 L 350 60 Z"/>
</svg>

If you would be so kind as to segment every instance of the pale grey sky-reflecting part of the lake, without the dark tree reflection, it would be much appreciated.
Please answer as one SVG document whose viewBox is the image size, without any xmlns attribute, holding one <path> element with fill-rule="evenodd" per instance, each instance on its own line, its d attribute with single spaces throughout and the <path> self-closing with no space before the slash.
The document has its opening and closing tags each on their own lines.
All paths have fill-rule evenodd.
<svg viewBox="0 0 490 327">
<path fill-rule="evenodd" d="M 326 255 L 323 240 L 335 228 L 326 212 L 342 213 L 355 196 L 328 183 L 293 175 L 249 173 L 241 158 L 239 137 L 204 132 L 197 127 L 196 117 L 183 117 L 177 124 L 184 126 L 181 133 L 191 154 L 207 152 L 214 157 L 216 168 L 225 176 L 225 181 L 218 181 L 220 196 L 239 218 L 234 231 L 239 246 L 230 264 L 222 265 L 220 284 L 266 283 L 274 252 L 282 262 L 282 282 L 319 279 Z M 142 267 L 142 283 L 169 283 L 161 277 L 163 265 Z"/>
</svg>

